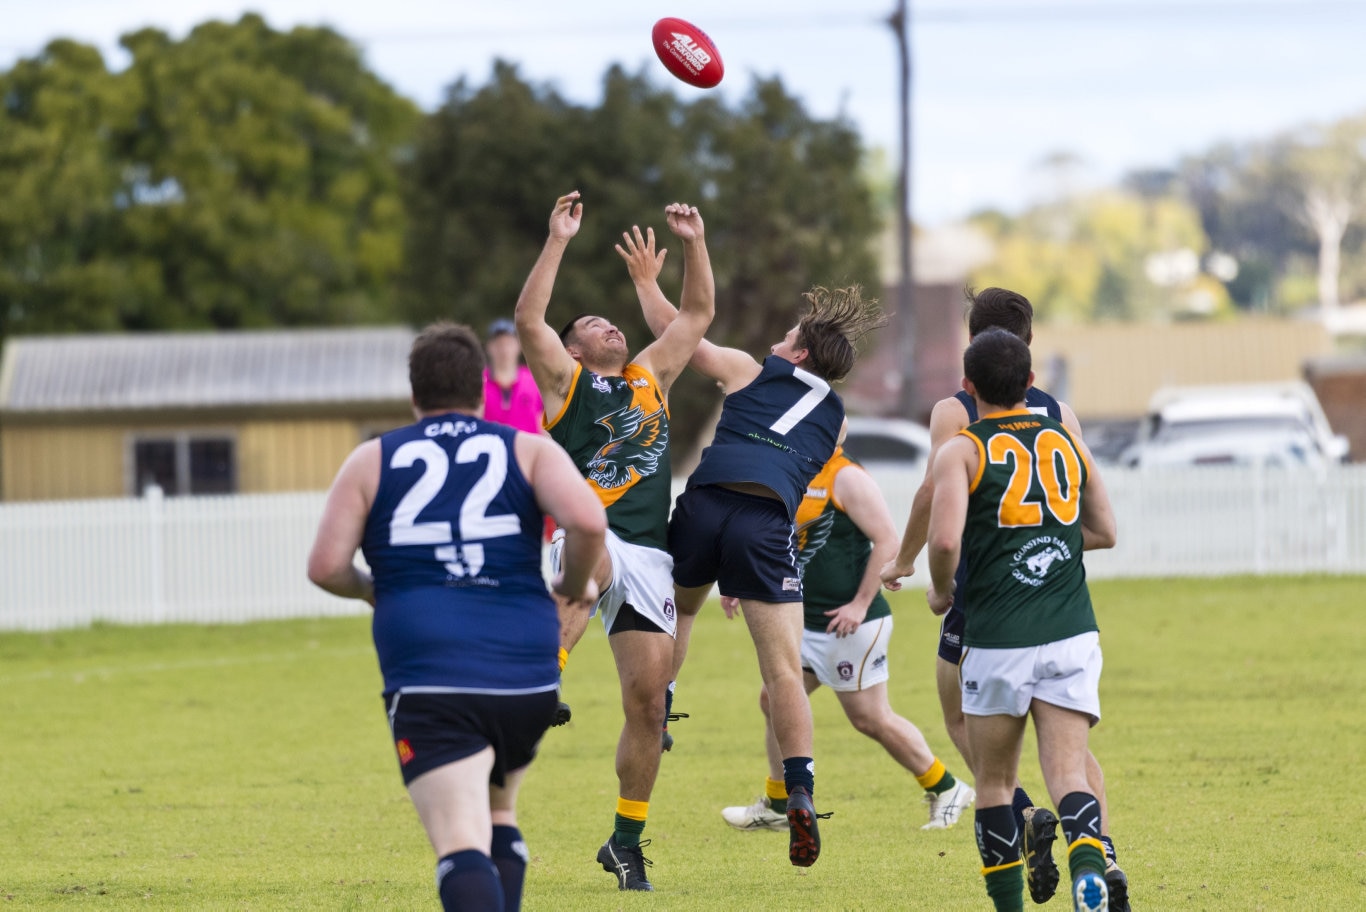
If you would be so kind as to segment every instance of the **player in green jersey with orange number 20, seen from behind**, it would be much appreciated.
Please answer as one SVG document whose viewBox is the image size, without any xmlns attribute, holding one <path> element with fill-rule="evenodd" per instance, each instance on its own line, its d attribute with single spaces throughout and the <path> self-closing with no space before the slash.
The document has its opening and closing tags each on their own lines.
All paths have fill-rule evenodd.
<svg viewBox="0 0 1366 912">
<path fill-rule="evenodd" d="M 1023 909 L 1020 833 L 1011 812 L 1026 715 L 1067 837 L 1078 912 L 1108 907 L 1100 803 L 1086 778 L 1100 721 L 1101 650 L 1082 552 L 1113 547 L 1115 516 L 1090 452 L 1067 427 L 1024 407 L 1029 345 L 992 329 L 963 355 L 978 415 L 938 452 L 930 508 L 928 599 L 953 601 L 967 579 L 959 666 L 977 775 L 977 844 L 997 912 Z"/>
</svg>

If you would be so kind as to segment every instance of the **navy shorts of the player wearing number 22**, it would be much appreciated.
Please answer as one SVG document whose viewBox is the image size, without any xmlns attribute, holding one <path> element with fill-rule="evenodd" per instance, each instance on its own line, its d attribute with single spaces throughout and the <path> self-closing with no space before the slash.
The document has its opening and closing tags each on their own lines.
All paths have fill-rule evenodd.
<svg viewBox="0 0 1366 912">
<path fill-rule="evenodd" d="M 389 692 L 393 747 L 403 784 L 423 773 L 493 748 L 489 782 L 501 788 L 507 774 L 535 756 L 535 747 L 555 719 L 559 696 L 541 694 Z"/>
</svg>

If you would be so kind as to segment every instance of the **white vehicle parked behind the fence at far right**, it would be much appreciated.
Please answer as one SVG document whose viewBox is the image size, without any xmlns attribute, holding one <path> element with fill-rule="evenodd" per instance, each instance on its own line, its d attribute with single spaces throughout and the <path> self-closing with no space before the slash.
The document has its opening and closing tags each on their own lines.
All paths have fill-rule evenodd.
<svg viewBox="0 0 1366 912">
<path fill-rule="evenodd" d="M 1328 425 L 1307 384 L 1179 386 L 1153 396 L 1121 463 L 1157 466 L 1322 467 L 1348 442 Z"/>
</svg>

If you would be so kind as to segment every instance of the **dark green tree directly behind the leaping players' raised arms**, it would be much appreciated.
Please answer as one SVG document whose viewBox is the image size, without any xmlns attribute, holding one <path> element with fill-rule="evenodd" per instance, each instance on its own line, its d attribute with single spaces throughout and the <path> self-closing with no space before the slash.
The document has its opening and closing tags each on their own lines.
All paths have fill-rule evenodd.
<svg viewBox="0 0 1366 912">
<path fill-rule="evenodd" d="M 481 87 L 455 83 L 422 126 L 406 182 L 406 313 L 475 325 L 511 315 L 555 198 L 579 190 L 583 227 L 549 318 L 601 313 L 638 350 L 649 329 L 612 247 L 631 225 L 652 225 L 663 246 L 676 246 L 664 206 L 690 202 L 706 221 L 716 272 L 708 337 L 762 354 L 811 285 L 856 281 L 878 294 L 878 220 L 862 160 L 852 126 L 811 117 L 776 79 L 755 81 L 732 108 L 716 96 L 683 102 L 613 67 L 601 101 L 578 105 L 499 63 Z M 680 262 L 671 258 L 661 277 L 672 295 Z M 679 444 L 716 399 L 684 374 L 672 396 Z"/>
</svg>

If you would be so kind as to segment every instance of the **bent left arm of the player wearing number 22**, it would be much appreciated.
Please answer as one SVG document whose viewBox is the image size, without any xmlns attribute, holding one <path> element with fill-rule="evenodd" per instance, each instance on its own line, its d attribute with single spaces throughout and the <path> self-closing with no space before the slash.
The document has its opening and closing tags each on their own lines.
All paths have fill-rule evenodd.
<svg viewBox="0 0 1366 912">
<path fill-rule="evenodd" d="M 316 586 L 370 605 L 374 605 L 374 579 L 355 565 L 355 552 L 361 547 L 378 483 L 380 441 L 370 440 L 342 463 L 309 552 L 309 579 Z"/>
</svg>

